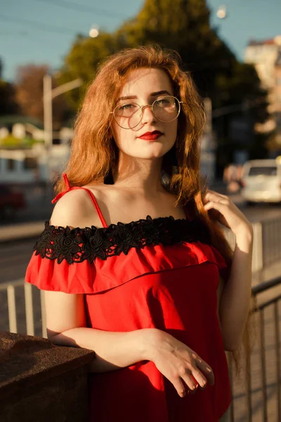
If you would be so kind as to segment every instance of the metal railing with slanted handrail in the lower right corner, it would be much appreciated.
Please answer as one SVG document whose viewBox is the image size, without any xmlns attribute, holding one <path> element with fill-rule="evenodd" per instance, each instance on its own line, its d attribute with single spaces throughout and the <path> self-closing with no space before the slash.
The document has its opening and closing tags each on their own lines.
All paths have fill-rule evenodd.
<svg viewBox="0 0 281 422">
<path fill-rule="evenodd" d="M 271 290 L 277 291 L 268 299 L 267 296 Z M 251 289 L 251 293 L 255 304 L 253 316 L 256 316 L 256 328 L 258 328 L 256 335 L 259 337 L 259 341 L 255 342 L 256 350 L 253 350 L 250 359 L 247 361 L 244 383 L 241 384 L 240 382 L 240 384 L 235 385 L 233 362 L 232 359 L 229 360 L 230 381 L 233 391 L 230 421 L 251 422 L 258 418 L 259 421 L 263 422 L 281 422 L 281 312 L 279 309 L 281 304 L 281 276 L 259 283 Z M 265 298 L 259 303 L 259 296 L 261 295 Z M 265 316 L 266 312 L 267 315 Z M 246 370 L 248 375 L 246 375 Z M 241 385 L 244 387 L 242 393 Z M 257 393 L 260 393 L 260 398 L 254 400 L 253 397 Z M 244 401 L 244 406 L 241 400 Z M 238 409 L 240 411 L 237 411 Z"/>
</svg>

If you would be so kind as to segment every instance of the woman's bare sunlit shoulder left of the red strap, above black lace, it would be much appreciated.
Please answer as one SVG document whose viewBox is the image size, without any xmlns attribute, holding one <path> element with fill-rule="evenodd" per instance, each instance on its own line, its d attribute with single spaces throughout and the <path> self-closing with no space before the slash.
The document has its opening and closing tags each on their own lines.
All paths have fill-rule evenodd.
<svg viewBox="0 0 281 422">
<path fill-rule="evenodd" d="M 53 226 L 85 227 L 99 226 L 100 219 L 89 194 L 84 189 L 65 193 L 53 208 L 50 223 Z"/>
</svg>

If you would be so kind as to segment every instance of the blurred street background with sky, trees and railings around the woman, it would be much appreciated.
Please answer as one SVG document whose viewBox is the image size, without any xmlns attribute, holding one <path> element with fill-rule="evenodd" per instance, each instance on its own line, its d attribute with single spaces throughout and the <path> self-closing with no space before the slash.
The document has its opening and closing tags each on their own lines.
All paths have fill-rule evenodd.
<svg viewBox="0 0 281 422">
<path fill-rule="evenodd" d="M 280 16 L 280 0 L 1 1 L 0 331 L 46 334 L 37 293 L 27 316 L 23 276 L 98 63 L 158 43 L 180 53 L 204 98 L 202 176 L 254 226 L 254 297 L 256 314 L 269 312 L 268 347 L 257 342 L 256 375 L 237 383 L 232 420 L 281 421 Z"/>
</svg>

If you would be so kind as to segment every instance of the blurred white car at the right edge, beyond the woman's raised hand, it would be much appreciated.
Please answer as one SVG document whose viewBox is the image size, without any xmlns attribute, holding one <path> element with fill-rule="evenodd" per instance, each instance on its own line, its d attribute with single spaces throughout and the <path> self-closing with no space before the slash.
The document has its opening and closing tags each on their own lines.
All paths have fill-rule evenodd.
<svg viewBox="0 0 281 422">
<path fill-rule="evenodd" d="M 253 203 L 281 203 L 281 160 L 249 160 L 243 167 L 242 198 Z"/>
</svg>

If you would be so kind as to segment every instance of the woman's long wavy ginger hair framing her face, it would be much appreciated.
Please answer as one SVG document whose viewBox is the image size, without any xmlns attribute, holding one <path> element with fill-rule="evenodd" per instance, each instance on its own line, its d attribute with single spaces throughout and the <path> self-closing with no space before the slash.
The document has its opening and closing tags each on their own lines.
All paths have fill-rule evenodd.
<svg viewBox="0 0 281 422">
<path fill-rule="evenodd" d="M 175 146 L 163 158 L 162 181 L 168 191 L 176 196 L 176 203 L 184 205 L 192 219 L 200 219 L 211 236 L 211 242 L 231 266 L 233 251 L 223 231 L 204 210 L 202 198 L 206 186 L 200 177 L 200 135 L 204 128 L 205 114 L 202 98 L 197 93 L 190 72 L 180 67 L 178 53 L 160 49 L 159 46 L 140 46 L 124 49 L 107 58 L 98 68 L 89 85 L 84 102 L 74 124 L 70 160 L 65 172 L 70 186 L 103 183 L 118 161 L 118 148 L 112 137 L 111 119 L 119 91 L 129 72 L 139 68 L 162 69 L 168 75 L 174 96 L 183 101 L 178 116 Z M 60 177 L 55 192 L 65 190 Z M 245 333 L 247 333 L 247 324 Z M 248 336 L 244 336 L 246 354 L 249 356 Z M 239 350 L 232 352 L 236 369 L 239 369 Z"/>
</svg>

